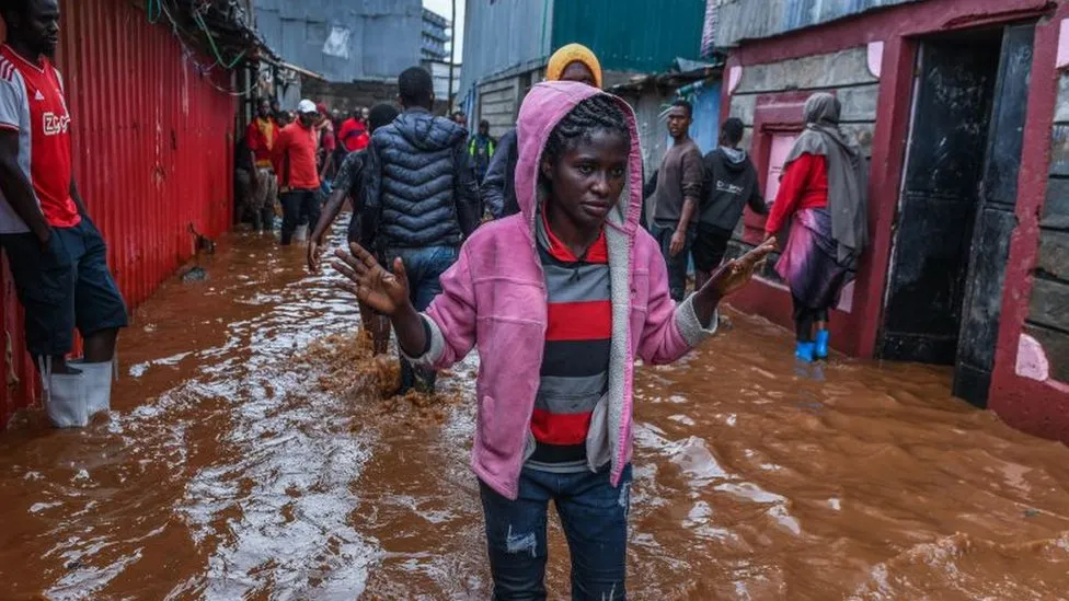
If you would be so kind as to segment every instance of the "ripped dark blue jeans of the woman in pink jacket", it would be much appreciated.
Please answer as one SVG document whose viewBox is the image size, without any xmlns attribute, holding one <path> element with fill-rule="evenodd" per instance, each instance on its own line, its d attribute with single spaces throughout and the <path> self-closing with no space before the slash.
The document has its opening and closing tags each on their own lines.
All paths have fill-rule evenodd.
<svg viewBox="0 0 1069 601">
<path fill-rule="evenodd" d="M 494 601 L 545 599 L 545 524 L 553 500 L 572 553 L 572 599 L 627 599 L 631 466 L 620 487 L 609 467 L 553 474 L 524 467 L 519 497 L 508 500 L 480 482 Z"/>
</svg>

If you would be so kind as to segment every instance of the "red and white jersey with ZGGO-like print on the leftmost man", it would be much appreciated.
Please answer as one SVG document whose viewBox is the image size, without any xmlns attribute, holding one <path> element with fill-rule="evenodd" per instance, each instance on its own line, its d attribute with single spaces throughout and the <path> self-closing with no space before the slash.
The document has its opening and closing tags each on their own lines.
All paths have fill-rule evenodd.
<svg viewBox="0 0 1069 601">
<path fill-rule="evenodd" d="M 19 166 L 45 221 L 54 228 L 80 223 L 70 196 L 70 113 L 62 79 L 47 58 L 34 65 L 7 44 L 0 48 L 0 129 L 19 132 Z M 14 209 L 0 200 L 0 233 L 26 231 Z"/>
</svg>

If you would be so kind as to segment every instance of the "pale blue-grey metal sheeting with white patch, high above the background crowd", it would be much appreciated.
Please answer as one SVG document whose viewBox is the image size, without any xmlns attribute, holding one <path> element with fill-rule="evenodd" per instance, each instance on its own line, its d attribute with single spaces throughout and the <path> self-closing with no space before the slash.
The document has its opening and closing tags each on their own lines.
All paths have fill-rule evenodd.
<svg viewBox="0 0 1069 601">
<path fill-rule="evenodd" d="M 330 81 L 381 80 L 419 65 L 421 0 L 255 0 L 256 28 L 286 61 Z"/>
</svg>

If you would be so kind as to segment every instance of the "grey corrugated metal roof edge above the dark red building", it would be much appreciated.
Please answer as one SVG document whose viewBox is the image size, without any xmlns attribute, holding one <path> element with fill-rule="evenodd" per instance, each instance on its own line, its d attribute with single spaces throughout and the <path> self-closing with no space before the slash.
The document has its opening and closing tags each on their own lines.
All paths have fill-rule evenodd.
<svg viewBox="0 0 1069 601">
<path fill-rule="evenodd" d="M 871 10 L 923 0 L 709 0 L 715 13 L 716 46 L 771 37 Z"/>
</svg>

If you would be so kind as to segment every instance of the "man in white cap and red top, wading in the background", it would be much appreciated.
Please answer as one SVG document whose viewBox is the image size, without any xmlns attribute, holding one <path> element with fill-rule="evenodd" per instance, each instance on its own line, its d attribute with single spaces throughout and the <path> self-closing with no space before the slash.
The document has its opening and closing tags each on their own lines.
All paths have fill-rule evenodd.
<svg viewBox="0 0 1069 601">
<path fill-rule="evenodd" d="M 320 186 L 319 170 L 315 169 L 319 148 L 315 122 L 319 109 L 312 101 L 302 100 L 297 105 L 297 120 L 279 132 L 274 149 L 283 204 L 283 246 L 292 241 L 301 221 L 319 221 L 319 200 L 315 196 Z"/>
</svg>

